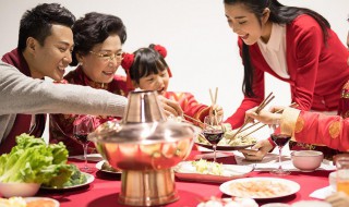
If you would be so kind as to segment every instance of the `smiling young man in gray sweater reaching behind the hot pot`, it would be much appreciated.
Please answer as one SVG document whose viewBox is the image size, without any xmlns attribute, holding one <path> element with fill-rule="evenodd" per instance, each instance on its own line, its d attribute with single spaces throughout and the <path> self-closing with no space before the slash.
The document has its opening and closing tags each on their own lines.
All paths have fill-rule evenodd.
<svg viewBox="0 0 349 207">
<path fill-rule="evenodd" d="M 61 81 L 72 61 L 74 21 L 57 3 L 38 4 L 22 16 L 17 48 L 0 62 L 0 155 L 11 150 L 16 135 L 41 136 L 46 118 L 38 113 L 123 115 L 125 97 L 44 81 L 45 76 Z M 163 105 L 167 113 L 182 113 L 174 101 L 163 100 Z"/>
</svg>

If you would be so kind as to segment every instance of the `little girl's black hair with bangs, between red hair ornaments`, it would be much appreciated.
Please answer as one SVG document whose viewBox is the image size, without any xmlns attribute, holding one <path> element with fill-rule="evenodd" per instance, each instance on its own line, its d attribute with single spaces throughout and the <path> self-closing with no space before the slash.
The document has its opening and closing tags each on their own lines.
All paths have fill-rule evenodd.
<svg viewBox="0 0 349 207">
<path fill-rule="evenodd" d="M 154 44 L 133 52 L 134 60 L 130 68 L 130 77 L 140 84 L 141 77 L 158 74 L 168 69 L 164 57 L 154 49 Z"/>
</svg>

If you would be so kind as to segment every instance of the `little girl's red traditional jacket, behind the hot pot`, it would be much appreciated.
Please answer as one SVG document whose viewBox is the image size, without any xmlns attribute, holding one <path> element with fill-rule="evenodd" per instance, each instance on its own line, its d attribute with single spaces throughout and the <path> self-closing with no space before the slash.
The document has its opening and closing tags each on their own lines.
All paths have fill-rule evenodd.
<svg viewBox="0 0 349 207">
<path fill-rule="evenodd" d="M 165 98 L 177 101 L 182 108 L 184 114 L 204 122 L 204 118 L 209 114 L 210 107 L 197 102 L 190 93 L 166 92 Z M 188 120 L 192 122 L 192 120 Z M 197 123 L 194 123 L 197 125 Z"/>
</svg>

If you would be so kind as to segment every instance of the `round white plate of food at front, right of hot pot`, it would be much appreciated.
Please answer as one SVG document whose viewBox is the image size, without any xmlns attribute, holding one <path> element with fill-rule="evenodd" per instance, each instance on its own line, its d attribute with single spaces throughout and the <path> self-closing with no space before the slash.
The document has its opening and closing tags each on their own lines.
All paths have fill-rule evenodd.
<svg viewBox="0 0 349 207">
<path fill-rule="evenodd" d="M 219 190 L 227 195 L 254 199 L 284 197 L 297 193 L 300 188 L 301 186 L 293 181 L 276 178 L 237 179 L 219 186 Z"/>
</svg>

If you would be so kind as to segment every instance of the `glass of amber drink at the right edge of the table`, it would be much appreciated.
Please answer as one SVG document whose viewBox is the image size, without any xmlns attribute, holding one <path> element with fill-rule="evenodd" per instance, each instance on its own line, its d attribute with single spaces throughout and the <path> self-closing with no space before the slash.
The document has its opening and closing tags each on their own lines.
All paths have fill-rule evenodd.
<svg viewBox="0 0 349 207">
<path fill-rule="evenodd" d="M 338 157 L 336 159 L 337 168 L 337 192 L 344 192 L 349 195 L 349 157 Z"/>
</svg>

